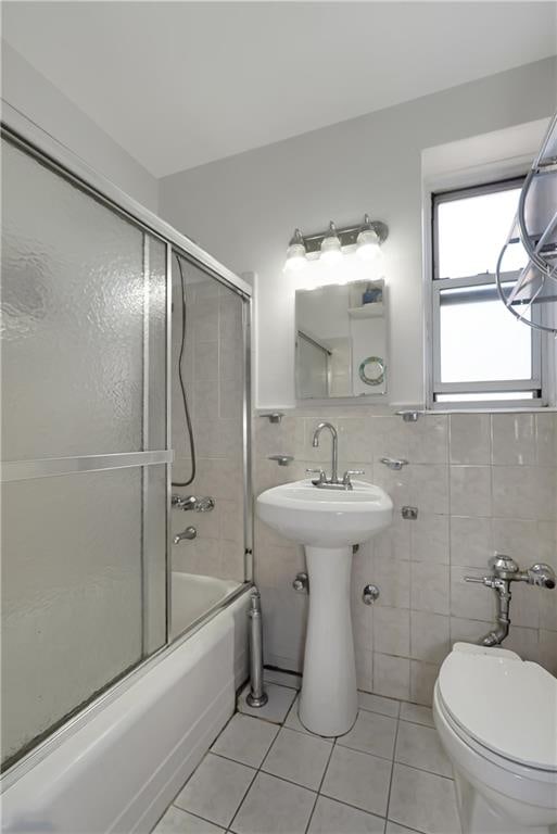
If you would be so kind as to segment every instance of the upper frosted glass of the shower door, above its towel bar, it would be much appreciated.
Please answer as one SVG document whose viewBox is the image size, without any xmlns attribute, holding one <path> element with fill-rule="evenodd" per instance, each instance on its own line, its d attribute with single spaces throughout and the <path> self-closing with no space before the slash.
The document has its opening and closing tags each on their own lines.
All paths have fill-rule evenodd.
<svg viewBox="0 0 557 834">
<path fill-rule="evenodd" d="M 142 408 L 164 244 L 5 140 L 2 152 L 3 458 L 164 447 L 164 422 L 143 437 Z M 164 407 L 164 354 L 149 384 Z"/>
</svg>

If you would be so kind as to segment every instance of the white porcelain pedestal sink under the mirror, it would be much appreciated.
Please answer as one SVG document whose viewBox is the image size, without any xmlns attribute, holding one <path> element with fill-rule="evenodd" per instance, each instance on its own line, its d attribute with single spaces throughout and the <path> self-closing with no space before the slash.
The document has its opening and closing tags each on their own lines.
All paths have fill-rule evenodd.
<svg viewBox="0 0 557 834">
<path fill-rule="evenodd" d="M 257 498 L 258 517 L 305 545 L 309 616 L 300 720 L 318 735 L 347 733 L 357 713 L 350 611 L 352 547 L 384 530 L 393 504 L 380 488 L 354 481 L 325 490 L 312 481 L 274 486 Z"/>
</svg>

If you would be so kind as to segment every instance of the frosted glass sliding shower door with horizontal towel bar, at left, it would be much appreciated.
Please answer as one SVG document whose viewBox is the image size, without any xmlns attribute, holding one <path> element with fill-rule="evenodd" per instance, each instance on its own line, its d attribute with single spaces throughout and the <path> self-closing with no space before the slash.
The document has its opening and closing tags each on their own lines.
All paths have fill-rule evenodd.
<svg viewBox="0 0 557 834">
<path fill-rule="evenodd" d="M 2 761 L 165 644 L 167 245 L 2 139 Z"/>
</svg>

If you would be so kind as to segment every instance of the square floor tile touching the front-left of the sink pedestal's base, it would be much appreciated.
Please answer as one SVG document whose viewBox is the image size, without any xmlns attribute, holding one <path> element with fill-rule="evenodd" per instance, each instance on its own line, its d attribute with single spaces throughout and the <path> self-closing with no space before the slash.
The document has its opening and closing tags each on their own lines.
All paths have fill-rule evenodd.
<svg viewBox="0 0 557 834">
<path fill-rule="evenodd" d="M 262 770 L 317 791 L 331 755 L 332 744 L 324 738 L 282 728 Z"/>
</svg>

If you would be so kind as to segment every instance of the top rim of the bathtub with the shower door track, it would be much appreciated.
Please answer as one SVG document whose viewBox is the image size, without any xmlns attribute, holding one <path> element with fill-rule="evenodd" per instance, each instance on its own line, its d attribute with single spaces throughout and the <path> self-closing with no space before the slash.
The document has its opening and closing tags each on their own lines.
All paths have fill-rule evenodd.
<svg viewBox="0 0 557 834">
<path fill-rule="evenodd" d="M 193 620 L 172 643 L 167 643 L 149 655 L 144 660 L 125 672 L 122 678 L 114 683 L 107 684 L 96 698 L 88 702 L 86 706 L 72 716 L 65 723 L 58 728 L 52 734 L 48 735 L 36 747 L 33 747 L 27 754 L 17 759 L 8 770 L 0 774 L 0 796 L 14 785 L 22 776 L 33 770 L 40 761 L 49 756 L 53 750 L 60 747 L 67 738 L 77 733 L 81 726 L 91 721 L 102 709 L 114 702 L 124 692 L 129 690 L 135 683 L 141 680 L 151 669 L 166 660 L 173 652 L 183 645 L 190 637 L 198 633 L 211 620 L 217 617 L 223 610 L 242 595 L 249 594 L 254 587 L 252 580 L 246 580 L 239 587 L 232 590 L 218 603 L 215 603 L 197 620 Z"/>
</svg>

